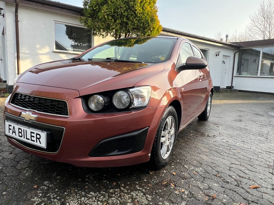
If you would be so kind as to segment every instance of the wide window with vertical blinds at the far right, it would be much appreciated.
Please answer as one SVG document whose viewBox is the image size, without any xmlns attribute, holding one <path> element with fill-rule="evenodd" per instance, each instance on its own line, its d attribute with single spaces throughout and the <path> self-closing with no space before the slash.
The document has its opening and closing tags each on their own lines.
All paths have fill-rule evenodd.
<svg viewBox="0 0 274 205">
<path fill-rule="evenodd" d="M 274 47 L 241 49 L 236 75 L 274 77 L 273 67 Z"/>
</svg>

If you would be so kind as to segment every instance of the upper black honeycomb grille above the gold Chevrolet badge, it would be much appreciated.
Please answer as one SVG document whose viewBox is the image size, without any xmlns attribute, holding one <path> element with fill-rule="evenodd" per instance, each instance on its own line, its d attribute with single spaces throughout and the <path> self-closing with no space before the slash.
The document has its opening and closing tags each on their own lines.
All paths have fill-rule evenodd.
<svg viewBox="0 0 274 205">
<path fill-rule="evenodd" d="M 14 93 L 11 104 L 38 112 L 68 116 L 68 105 L 66 101 Z"/>
</svg>

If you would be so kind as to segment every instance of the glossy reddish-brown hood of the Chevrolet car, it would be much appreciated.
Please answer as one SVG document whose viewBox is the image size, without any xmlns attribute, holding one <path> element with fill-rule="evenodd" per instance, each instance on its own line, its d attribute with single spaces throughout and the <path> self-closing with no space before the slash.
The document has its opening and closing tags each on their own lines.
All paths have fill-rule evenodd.
<svg viewBox="0 0 274 205">
<path fill-rule="evenodd" d="M 62 60 L 34 66 L 17 82 L 78 90 L 80 95 L 133 87 L 164 65 Z"/>
</svg>

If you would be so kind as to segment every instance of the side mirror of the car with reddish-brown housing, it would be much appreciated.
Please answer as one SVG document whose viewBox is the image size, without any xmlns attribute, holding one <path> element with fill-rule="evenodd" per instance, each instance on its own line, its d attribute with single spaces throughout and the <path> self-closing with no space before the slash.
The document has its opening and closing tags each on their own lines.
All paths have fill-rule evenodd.
<svg viewBox="0 0 274 205">
<path fill-rule="evenodd" d="M 204 69 L 207 67 L 207 62 L 202 58 L 198 58 L 195 56 L 189 56 L 186 59 L 186 63 L 182 63 L 177 68 L 178 71 L 182 70 L 196 70 L 196 69 Z"/>
</svg>

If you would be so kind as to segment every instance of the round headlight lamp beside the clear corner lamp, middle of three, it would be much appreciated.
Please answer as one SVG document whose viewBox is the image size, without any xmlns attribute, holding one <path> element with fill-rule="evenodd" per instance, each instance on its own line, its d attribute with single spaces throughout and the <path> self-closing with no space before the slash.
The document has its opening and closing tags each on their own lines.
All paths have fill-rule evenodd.
<svg viewBox="0 0 274 205">
<path fill-rule="evenodd" d="M 118 109 L 125 109 L 132 105 L 132 95 L 126 91 L 117 91 L 112 97 L 112 103 Z"/>
</svg>

